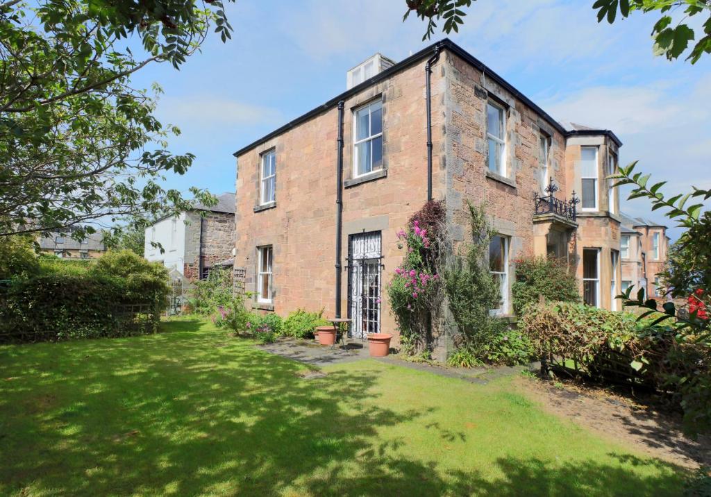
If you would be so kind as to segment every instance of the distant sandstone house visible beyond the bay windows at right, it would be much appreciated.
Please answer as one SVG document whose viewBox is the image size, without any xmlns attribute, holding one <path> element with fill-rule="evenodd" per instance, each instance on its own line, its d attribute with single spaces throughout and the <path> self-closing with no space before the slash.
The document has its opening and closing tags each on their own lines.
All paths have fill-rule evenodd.
<svg viewBox="0 0 711 497">
<path fill-rule="evenodd" d="M 643 288 L 647 298 L 665 300 L 659 273 L 664 269 L 669 248 L 666 230 L 664 225 L 622 214 L 620 252 L 623 291 L 634 285 L 633 296 Z"/>
</svg>

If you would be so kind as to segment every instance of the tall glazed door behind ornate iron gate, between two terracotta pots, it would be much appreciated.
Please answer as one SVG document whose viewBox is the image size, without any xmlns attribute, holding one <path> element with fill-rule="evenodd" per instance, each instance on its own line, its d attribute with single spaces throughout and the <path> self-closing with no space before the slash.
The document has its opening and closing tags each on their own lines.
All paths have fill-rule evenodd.
<svg viewBox="0 0 711 497">
<path fill-rule="evenodd" d="M 350 334 L 380 333 L 380 231 L 348 237 L 348 318 Z"/>
</svg>

